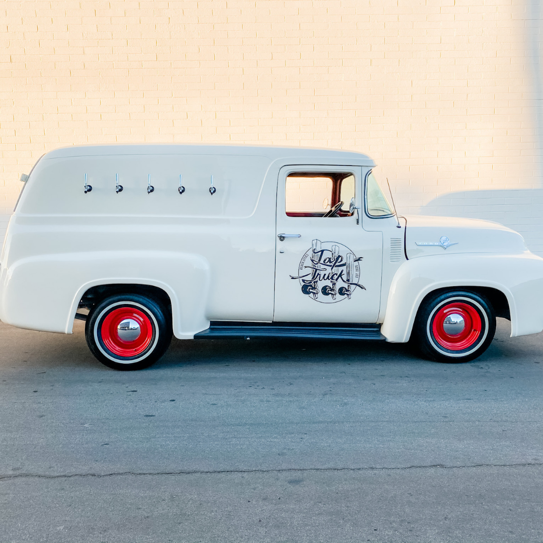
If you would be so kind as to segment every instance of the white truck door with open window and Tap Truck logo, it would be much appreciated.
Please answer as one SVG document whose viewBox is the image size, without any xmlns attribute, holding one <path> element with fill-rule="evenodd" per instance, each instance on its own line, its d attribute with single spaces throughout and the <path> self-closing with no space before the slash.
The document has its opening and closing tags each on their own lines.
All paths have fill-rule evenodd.
<svg viewBox="0 0 543 543">
<path fill-rule="evenodd" d="M 376 323 L 383 235 L 363 229 L 362 200 L 361 167 L 280 170 L 274 321 Z"/>
</svg>

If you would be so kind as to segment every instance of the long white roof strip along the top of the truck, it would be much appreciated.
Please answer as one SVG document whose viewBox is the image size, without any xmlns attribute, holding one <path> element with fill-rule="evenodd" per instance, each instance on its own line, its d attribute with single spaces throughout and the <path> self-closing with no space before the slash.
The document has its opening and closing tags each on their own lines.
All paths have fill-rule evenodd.
<svg viewBox="0 0 543 543">
<path fill-rule="evenodd" d="M 355 160 L 363 166 L 374 166 L 375 162 L 367 155 L 355 151 L 342 151 L 339 149 L 310 148 L 310 147 L 279 147 L 279 146 L 249 146 L 228 144 L 185 144 L 185 143 L 138 143 L 138 144 L 108 144 L 108 145 L 82 145 L 61 147 L 49 151 L 44 159 L 58 159 L 76 156 L 100 155 L 259 155 L 269 157 L 271 160 L 279 158 L 297 157 L 311 159 L 338 159 L 341 161 Z"/>
</svg>

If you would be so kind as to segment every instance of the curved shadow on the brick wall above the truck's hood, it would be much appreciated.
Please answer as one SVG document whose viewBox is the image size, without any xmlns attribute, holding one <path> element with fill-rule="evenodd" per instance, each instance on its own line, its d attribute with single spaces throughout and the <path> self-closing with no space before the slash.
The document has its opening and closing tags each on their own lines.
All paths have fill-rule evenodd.
<svg viewBox="0 0 543 543">
<path fill-rule="evenodd" d="M 521 233 L 543 256 L 543 189 L 451 192 L 434 198 L 421 215 L 494 220 Z"/>
</svg>

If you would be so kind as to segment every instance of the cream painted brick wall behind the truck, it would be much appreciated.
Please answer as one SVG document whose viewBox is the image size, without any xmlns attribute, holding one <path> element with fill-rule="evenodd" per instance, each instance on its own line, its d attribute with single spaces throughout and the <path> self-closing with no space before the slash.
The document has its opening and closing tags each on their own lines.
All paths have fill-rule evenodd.
<svg viewBox="0 0 543 543">
<path fill-rule="evenodd" d="M 491 218 L 543 253 L 539 4 L 4 0 L 0 239 L 47 150 L 238 142 L 369 153 L 402 212 Z"/>
</svg>

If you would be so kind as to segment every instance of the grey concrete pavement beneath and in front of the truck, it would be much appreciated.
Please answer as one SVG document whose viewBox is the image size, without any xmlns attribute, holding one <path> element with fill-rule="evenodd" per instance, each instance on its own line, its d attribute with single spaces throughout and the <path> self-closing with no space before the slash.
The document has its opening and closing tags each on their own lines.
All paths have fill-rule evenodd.
<svg viewBox="0 0 543 543">
<path fill-rule="evenodd" d="M 543 541 L 543 334 L 180 342 L 117 372 L 0 324 L 0 541 Z"/>
</svg>

